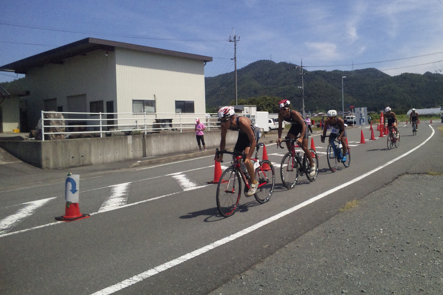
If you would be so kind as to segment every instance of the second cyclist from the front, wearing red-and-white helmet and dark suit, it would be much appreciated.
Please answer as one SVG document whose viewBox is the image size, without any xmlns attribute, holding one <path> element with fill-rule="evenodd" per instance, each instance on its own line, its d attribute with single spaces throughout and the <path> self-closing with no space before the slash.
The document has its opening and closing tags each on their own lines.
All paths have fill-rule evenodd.
<svg viewBox="0 0 443 295">
<path fill-rule="evenodd" d="M 315 175 L 315 163 L 312 161 L 312 154 L 307 147 L 308 142 L 308 133 L 307 133 L 307 123 L 304 120 L 303 116 L 300 115 L 298 111 L 291 110 L 291 103 L 289 100 L 281 100 L 279 102 L 280 111 L 278 113 L 278 140 L 277 144 L 281 142 L 281 132 L 282 132 L 282 124 L 283 121 L 291 123 L 291 128 L 286 135 L 287 139 L 296 139 L 300 134 L 300 137 L 297 139 L 297 144 L 303 149 L 303 152 L 307 156 L 309 160 L 309 176 L 314 177 Z M 288 150 L 291 151 L 291 143 L 286 142 L 286 146 Z"/>
</svg>

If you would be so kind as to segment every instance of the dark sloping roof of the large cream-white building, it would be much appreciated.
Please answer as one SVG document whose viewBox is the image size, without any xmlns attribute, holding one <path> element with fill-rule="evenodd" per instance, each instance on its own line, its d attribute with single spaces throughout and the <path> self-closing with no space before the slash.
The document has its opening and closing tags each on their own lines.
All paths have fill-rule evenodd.
<svg viewBox="0 0 443 295">
<path fill-rule="evenodd" d="M 0 71 L 26 74 L 26 71 L 31 68 L 41 67 L 49 63 L 62 64 L 63 61 L 69 57 L 73 57 L 76 55 L 84 55 L 89 52 L 97 50 L 114 51 L 116 47 L 142 50 L 157 54 L 167 54 L 172 56 L 194 58 L 202 60 L 204 62 L 212 61 L 212 57 L 209 56 L 189 54 L 179 51 L 159 49 L 154 47 L 141 46 L 141 45 L 123 43 L 123 42 L 115 42 L 104 39 L 85 38 L 70 44 L 66 44 L 64 46 L 54 48 L 52 50 L 42 52 L 40 54 L 35 54 L 31 57 L 23 58 L 19 61 L 14 61 L 8 65 L 2 65 L 0 66 Z"/>
</svg>

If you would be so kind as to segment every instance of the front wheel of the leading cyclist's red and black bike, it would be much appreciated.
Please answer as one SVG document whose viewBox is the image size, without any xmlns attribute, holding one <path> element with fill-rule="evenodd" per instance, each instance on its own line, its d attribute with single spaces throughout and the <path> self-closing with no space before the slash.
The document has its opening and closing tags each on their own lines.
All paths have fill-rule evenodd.
<svg viewBox="0 0 443 295">
<path fill-rule="evenodd" d="M 234 167 L 228 167 L 220 176 L 217 185 L 217 208 L 224 217 L 235 213 L 241 195 L 240 174 Z"/>
</svg>

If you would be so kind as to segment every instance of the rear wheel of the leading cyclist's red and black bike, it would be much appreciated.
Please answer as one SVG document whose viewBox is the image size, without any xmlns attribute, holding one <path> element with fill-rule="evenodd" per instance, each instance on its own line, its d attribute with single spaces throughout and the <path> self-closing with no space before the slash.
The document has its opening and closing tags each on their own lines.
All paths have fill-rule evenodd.
<svg viewBox="0 0 443 295">
<path fill-rule="evenodd" d="M 268 168 L 269 166 L 269 168 Z M 258 182 L 258 188 L 254 194 L 258 203 L 263 204 L 269 201 L 274 191 L 276 176 L 271 161 L 260 161 L 260 167 L 255 169 L 255 180 Z"/>
</svg>

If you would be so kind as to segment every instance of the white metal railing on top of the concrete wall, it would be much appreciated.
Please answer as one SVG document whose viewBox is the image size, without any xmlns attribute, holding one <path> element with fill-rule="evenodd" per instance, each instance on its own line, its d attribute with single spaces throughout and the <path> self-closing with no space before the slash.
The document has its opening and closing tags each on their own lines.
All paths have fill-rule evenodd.
<svg viewBox="0 0 443 295">
<path fill-rule="evenodd" d="M 54 118 L 61 114 L 63 118 Z M 42 140 L 45 134 L 127 133 L 150 134 L 160 130 L 194 130 L 195 119 L 205 124 L 207 130 L 220 129 L 217 113 L 81 113 L 41 111 Z M 49 122 L 54 121 L 54 122 Z M 50 127 L 62 127 L 54 132 Z M 45 130 L 46 129 L 46 130 Z M 123 134 L 122 134 L 123 135 Z"/>
</svg>

